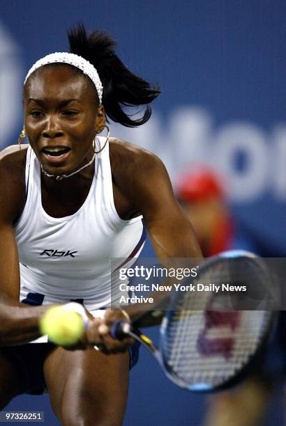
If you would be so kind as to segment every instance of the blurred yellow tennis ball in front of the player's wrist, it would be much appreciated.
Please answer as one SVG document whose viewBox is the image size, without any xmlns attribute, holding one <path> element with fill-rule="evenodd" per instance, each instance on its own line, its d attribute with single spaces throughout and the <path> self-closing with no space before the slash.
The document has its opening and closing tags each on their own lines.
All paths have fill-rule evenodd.
<svg viewBox="0 0 286 426">
<path fill-rule="evenodd" d="M 84 333 L 84 320 L 73 310 L 54 306 L 40 319 L 40 332 L 57 345 L 75 345 Z"/>
</svg>

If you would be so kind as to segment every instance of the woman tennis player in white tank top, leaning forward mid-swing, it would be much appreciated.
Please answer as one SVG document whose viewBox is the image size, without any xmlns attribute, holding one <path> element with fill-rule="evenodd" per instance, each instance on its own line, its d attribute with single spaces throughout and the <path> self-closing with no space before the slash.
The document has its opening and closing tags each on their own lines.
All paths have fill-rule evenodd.
<svg viewBox="0 0 286 426">
<path fill-rule="evenodd" d="M 106 126 L 106 117 L 143 125 L 149 106 L 137 119 L 123 107 L 150 104 L 160 90 L 121 63 L 106 33 L 80 26 L 69 40 L 71 53 L 29 70 L 19 146 L 1 153 L 0 408 L 47 388 L 63 425 L 115 426 L 137 354 L 132 340 L 108 333 L 128 316 L 106 309 L 110 258 L 136 257 L 144 226 L 160 258 L 197 257 L 200 248 L 160 159 Z M 47 307 L 70 301 L 89 315 L 76 350 L 43 342 L 39 331 Z"/>
</svg>

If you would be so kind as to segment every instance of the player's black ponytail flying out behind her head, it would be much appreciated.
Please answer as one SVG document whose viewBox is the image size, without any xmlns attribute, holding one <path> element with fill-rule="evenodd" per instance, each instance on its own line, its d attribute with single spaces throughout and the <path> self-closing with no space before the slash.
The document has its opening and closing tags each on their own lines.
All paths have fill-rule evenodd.
<svg viewBox="0 0 286 426">
<path fill-rule="evenodd" d="M 126 127 L 136 127 L 146 123 L 151 116 L 151 107 L 147 105 L 142 118 L 131 120 L 123 111 L 123 106 L 137 107 L 150 104 L 160 93 L 152 88 L 148 81 L 137 77 L 120 61 L 114 53 L 116 42 L 104 31 L 86 34 L 84 26 L 68 31 L 70 53 L 77 54 L 92 63 L 103 84 L 103 105 L 111 120 Z"/>
</svg>

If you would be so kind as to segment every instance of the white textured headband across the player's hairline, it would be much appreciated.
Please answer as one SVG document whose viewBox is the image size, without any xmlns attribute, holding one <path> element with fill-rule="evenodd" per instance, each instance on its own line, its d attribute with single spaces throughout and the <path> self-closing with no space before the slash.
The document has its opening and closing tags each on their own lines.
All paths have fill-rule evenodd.
<svg viewBox="0 0 286 426">
<path fill-rule="evenodd" d="M 82 58 L 82 56 L 70 54 L 68 52 L 55 52 L 39 59 L 36 63 L 33 64 L 32 68 L 30 68 L 26 78 L 24 79 L 24 84 L 26 84 L 26 81 L 29 79 L 32 72 L 38 70 L 40 67 L 43 67 L 43 65 L 47 65 L 48 63 L 68 63 L 68 65 L 73 65 L 74 67 L 82 70 L 84 74 L 89 76 L 94 86 L 96 86 L 99 104 L 101 104 L 103 100 L 103 84 L 100 81 L 96 68 L 94 68 L 89 61 L 86 61 L 86 59 Z"/>
</svg>

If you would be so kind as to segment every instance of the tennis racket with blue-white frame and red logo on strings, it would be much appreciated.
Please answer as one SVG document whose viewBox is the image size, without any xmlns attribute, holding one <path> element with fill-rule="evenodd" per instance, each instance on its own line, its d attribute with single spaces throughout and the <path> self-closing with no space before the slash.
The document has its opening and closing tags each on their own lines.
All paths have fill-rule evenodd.
<svg viewBox="0 0 286 426">
<path fill-rule="evenodd" d="M 245 285 L 253 310 L 241 310 L 237 292 L 172 291 L 165 312 L 152 310 L 131 324 L 115 322 L 111 335 L 118 339 L 132 336 L 182 388 L 202 392 L 231 386 L 243 377 L 269 337 L 273 276 L 253 253 L 227 251 L 202 263 L 192 280 L 195 286 Z M 158 316 L 163 321 L 157 348 L 139 327 Z"/>
</svg>

